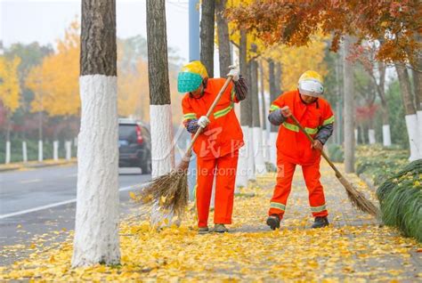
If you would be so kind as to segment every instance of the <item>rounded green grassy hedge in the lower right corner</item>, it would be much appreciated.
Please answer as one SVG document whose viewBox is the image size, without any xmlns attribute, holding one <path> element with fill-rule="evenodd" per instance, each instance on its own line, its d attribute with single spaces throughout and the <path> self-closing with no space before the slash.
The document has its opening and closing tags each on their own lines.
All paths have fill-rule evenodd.
<svg viewBox="0 0 422 283">
<path fill-rule="evenodd" d="M 394 174 L 377 189 L 382 219 L 422 242 L 422 160 Z"/>
</svg>

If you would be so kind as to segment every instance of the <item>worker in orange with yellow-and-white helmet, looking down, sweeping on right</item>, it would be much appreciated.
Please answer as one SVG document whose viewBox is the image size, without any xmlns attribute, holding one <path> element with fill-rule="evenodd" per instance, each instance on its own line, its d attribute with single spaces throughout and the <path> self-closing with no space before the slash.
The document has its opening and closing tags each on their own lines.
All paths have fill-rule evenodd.
<svg viewBox="0 0 422 283">
<path fill-rule="evenodd" d="M 322 98 L 323 92 L 321 76 L 308 70 L 299 78 L 297 90 L 282 93 L 272 101 L 268 119 L 272 125 L 280 125 L 277 137 L 277 184 L 267 219 L 272 230 L 280 228 L 297 165 L 302 166 L 311 212 L 315 217 L 312 228 L 329 225 L 329 213 L 320 182 L 320 161 L 322 147 L 333 133 L 334 115 L 329 102 Z M 300 132 L 290 118 L 292 115 L 311 134 L 313 143 Z"/>
</svg>

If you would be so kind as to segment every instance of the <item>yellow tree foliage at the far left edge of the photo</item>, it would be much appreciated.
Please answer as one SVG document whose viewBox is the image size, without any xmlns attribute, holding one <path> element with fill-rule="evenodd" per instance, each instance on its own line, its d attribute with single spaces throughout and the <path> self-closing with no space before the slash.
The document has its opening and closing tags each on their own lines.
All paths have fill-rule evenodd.
<svg viewBox="0 0 422 283">
<path fill-rule="evenodd" d="M 0 57 L 0 101 L 9 115 L 20 106 L 19 64 L 19 57 L 12 60 Z"/>
</svg>

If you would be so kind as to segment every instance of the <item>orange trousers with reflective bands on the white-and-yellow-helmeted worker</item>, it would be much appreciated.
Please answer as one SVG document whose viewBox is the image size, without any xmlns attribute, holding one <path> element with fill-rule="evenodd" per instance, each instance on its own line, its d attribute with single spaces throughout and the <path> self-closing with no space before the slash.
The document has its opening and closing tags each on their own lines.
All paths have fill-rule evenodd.
<svg viewBox="0 0 422 283">
<path fill-rule="evenodd" d="M 302 166 L 304 182 L 309 193 L 309 204 L 311 205 L 311 211 L 314 217 L 327 216 L 329 214 L 325 205 L 324 190 L 320 182 L 320 161 L 321 158 L 312 165 Z M 283 160 L 283 158 L 278 158 L 277 167 L 277 184 L 272 194 L 268 214 L 278 214 L 280 219 L 282 219 L 286 211 L 296 164 Z"/>
</svg>

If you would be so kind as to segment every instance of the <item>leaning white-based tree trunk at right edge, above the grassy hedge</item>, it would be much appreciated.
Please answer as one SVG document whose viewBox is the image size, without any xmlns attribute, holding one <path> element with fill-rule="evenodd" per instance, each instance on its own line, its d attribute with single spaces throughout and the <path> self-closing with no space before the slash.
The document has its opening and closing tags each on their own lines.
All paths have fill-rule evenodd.
<svg viewBox="0 0 422 283">
<path fill-rule="evenodd" d="M 419 134 L 418 134 L 418 116 L 415 105 L 413 104 L 413 97 L 410 89 L 410 79 L 408 71 L 405 67 L 398 64 L 395 65 L 397 75 L 399 77 L 400 89 L 402 93 L 402 101 L 404 106 L 404 114 L 406 119 L 406 127 L 408 129 L 409 143 L 410 143 L 410 161 L 421 158 L 421 150 Z"/>
</svg>

